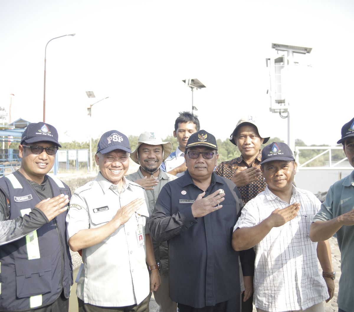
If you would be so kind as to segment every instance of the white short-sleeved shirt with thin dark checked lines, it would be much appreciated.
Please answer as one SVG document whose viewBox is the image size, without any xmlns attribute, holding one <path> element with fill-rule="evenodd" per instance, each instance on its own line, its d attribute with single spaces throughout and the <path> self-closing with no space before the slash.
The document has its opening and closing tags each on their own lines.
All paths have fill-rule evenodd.
<svg viewBox="0 0 354 312">
<path fill-rule="evenodd" d="M 311 192 L 293 186 L 290 204 L 294 202 L 301 205 L 296 218 L 274 227 L 255 246 L 254 302 L 265 311 L 305 310 L 329 297 L 318 268 L 317 243 L 309 237 L 321 203 Z M 255 226 L 276 208 L 287 206 L 267 186 L 242 209 L 234 231 Z"/>
</svg>

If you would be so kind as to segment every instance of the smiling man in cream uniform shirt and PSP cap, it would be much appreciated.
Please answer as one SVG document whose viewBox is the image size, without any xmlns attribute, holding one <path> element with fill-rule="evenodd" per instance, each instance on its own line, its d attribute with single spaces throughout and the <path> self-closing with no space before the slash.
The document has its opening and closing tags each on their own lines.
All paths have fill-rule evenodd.
<svg viewBox="0 0 354 312">
<path fill-rule="evenodd" d="M 84 262 L 76 289 L 80 312 L 148 311 L 149 291 L 160 285 L 145 227 L 145 190 L 124 178 L 130 152 L 126 135 L 104 133 L 95 155 L 97 178 L 79 187 L 70 201 L 68 243 L 73 251 L 82 250 Z"/>
</svg>

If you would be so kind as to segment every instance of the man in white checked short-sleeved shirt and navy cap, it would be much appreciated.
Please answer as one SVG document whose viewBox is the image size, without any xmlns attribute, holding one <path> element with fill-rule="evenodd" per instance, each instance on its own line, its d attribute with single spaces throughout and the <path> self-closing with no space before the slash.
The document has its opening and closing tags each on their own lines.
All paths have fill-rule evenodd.
<svg viewBox="0 0 354 312">
<path fill-rule="evenodd" d="M 296 166 L 285 143 L 267 145 L 261 162 L 267 187 L 245 205 L 234 227 L 235 250 L 255 247 L 258 312 L 324 312 L 323 301 L 333 297 L 333 279 L 325 281 L 317 264 L 319 260 L 324 272 L 332 272 L 329 243 L 309 238 L 321 203 L 293 185 Z"/>
</svg>

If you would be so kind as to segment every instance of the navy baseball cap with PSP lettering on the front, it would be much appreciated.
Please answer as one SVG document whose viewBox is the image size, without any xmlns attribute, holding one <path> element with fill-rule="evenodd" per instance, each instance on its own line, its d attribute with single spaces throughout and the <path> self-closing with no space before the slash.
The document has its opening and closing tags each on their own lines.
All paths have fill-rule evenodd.
<svg viewBox="0 0 354 312">
<path fill-rule="evenodd" d="M 129 140 L 123 133 L 111 130 L 102 134 L 97 144 L 97 152 L 106 154 L 114 150 L 122 150 L 131 153 Z"/>
</svg>

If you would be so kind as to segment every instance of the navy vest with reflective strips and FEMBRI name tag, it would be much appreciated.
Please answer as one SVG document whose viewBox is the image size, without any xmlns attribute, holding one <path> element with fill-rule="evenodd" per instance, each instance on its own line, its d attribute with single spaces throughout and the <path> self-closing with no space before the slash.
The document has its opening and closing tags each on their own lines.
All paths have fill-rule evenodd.
<svg viewBox="0 0 354 312">
<path fill-rule="evenodd" d="M 61 180 L 48 177 L 53 197 L 70 196 Z M 41 201 L 18 172 L 0 179 L 10 201 L 10 219 L 28 214 Z M 69 297 L 73 269 L 66 239 L 66 213 L 28 235 L 0 246 L 0 310 L 38 308 L 54 302 L 64 290 Z"/>
</svg>

